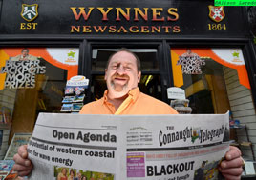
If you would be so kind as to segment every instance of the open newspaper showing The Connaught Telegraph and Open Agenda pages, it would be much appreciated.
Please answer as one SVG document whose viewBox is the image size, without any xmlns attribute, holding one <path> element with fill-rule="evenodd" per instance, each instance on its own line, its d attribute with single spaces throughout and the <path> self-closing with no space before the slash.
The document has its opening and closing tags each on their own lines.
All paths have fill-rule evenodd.
<svg viewBox="0 0 256 180">
<path fill-rule="evenodd" d="M 41 113 L 31 179 L 218 179 L 229 149 L 226 114 Z"/>
</svg>

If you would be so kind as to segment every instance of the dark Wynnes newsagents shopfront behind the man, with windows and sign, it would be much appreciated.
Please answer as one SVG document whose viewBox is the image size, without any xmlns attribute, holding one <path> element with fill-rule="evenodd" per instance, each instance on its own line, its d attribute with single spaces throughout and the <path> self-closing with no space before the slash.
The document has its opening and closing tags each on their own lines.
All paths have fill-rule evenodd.
<svg viewBox="0 0 256 180">
<path fill-rule="evenodd" d="M 32 132 L 39 112 L 59 113 L 67 80 L 75 75 L 89 79 L 83 103 L 100 98 L 109 55 L 127 48 L 141 61 L 141 91 L 170 104 L 167 89 L 177 87 L 185 91 L 192 113 L 231 111 L 247 126 L 252 146 L 242 150 L 253 159 L 256 53 L 246 9 L 212 5 L 203 0 L 0 1 L 5 141 Z M 247 138 L 245 130 L 237 135 Z"/>
</svg>

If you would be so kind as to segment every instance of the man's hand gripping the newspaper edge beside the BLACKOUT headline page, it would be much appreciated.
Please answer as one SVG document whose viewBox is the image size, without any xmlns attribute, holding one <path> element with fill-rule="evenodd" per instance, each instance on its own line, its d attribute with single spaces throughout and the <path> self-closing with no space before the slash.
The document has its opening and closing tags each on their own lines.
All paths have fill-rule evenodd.
<svg viewBox="0 0 256 180">
<path fill-rule="evenodd" d="M 219 170 L 227 180 L 241 179 L 244 160 L 241 157 L 241 151 L 233 146 L 225 153 L 225 160 L 221 163 Z"/>
</svg>

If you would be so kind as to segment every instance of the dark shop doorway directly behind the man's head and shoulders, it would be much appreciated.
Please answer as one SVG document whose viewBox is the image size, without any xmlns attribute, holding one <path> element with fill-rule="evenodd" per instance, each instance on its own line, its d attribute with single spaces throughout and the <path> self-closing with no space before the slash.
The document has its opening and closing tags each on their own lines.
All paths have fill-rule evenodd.
<svg viewBox="0 0 256 180">
<path fill-rule="evenodd" d="M 102 97 L 107 86 L 104 71 L 109 56 L 118 49 L 93 49 L 92 53 L 92 81 L 90 100 Z M 141 79 L 139 90 L 150 96 L 162 100 L 160 63 L 157 49 L 129 49 L 136 53 L 141 63 Z"/>
</svg>

